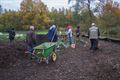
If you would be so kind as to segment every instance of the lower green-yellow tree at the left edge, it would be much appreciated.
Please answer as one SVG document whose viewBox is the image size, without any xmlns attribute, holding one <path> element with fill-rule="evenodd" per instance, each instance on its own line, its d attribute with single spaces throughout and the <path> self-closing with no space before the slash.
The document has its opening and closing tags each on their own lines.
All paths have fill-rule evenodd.
<svg viewBox="0 0 120 80">
<path fill-rule="evenodd" d="M 18 12 L 9 10 L 0 15 L 0 30 L 5 31 L 9 28 L 19 29 L 21 21 Z"/>
</svg>

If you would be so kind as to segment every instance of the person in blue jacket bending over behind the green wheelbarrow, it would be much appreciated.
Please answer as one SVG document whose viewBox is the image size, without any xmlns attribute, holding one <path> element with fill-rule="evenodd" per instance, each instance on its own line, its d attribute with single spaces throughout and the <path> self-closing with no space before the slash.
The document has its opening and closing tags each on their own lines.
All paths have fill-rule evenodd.
<svg viewBox="0 0 120 80">
<path fill-rule="evenodd" d="M 56 42 L 58 40 L 57 28 L 55 25 L 52 25 L 48 31 L 48 40 L 50 42 Z"/>
</svg>

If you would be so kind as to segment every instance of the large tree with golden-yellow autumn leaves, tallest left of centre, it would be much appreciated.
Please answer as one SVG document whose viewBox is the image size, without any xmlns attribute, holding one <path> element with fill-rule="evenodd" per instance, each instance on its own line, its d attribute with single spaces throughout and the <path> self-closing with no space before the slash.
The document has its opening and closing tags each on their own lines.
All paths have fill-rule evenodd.
<svg viewBox="0 0 120 80">
<path fill-rule="evenodd" d="M 44 28 L 43 26 L 48 26 L 50 23 L 47 6 L 41 0 L 23 0 L 20 12 L 23 25 Z"/>
</svg>

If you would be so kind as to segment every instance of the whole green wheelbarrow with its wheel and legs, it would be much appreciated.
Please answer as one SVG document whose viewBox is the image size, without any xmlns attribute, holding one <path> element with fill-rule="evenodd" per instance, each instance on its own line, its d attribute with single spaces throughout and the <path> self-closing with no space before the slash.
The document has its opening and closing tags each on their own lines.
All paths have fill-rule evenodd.
<svg viewBox="0 0 120 80">
<path fill-rule="evenodd" d="M 56 43 L 55 42 L 45 42 L 36 47 L 34 47 L 34 54 L 37 61 L 45 61 L 47 64 L 51 59 L 53 62 L 57 60 L 57 54 L 55 53 Z"/>
</svg>

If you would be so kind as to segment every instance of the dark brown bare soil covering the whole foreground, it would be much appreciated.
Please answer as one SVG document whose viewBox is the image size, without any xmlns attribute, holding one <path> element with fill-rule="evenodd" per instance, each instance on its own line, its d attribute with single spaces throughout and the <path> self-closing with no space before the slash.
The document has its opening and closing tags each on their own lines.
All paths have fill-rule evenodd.
<svg viewBox="0 0 120 80">
<path fill-rule="evenodd" d="M 89 44 L 77 44 L 58 52 L 57 61 L 49 64 L 26 56 L 24 42 L 10 46 L 0 45 L 0 80 L 120 80 L 119 44 L 100 41 L 95 52 Z"/>
</svg>

